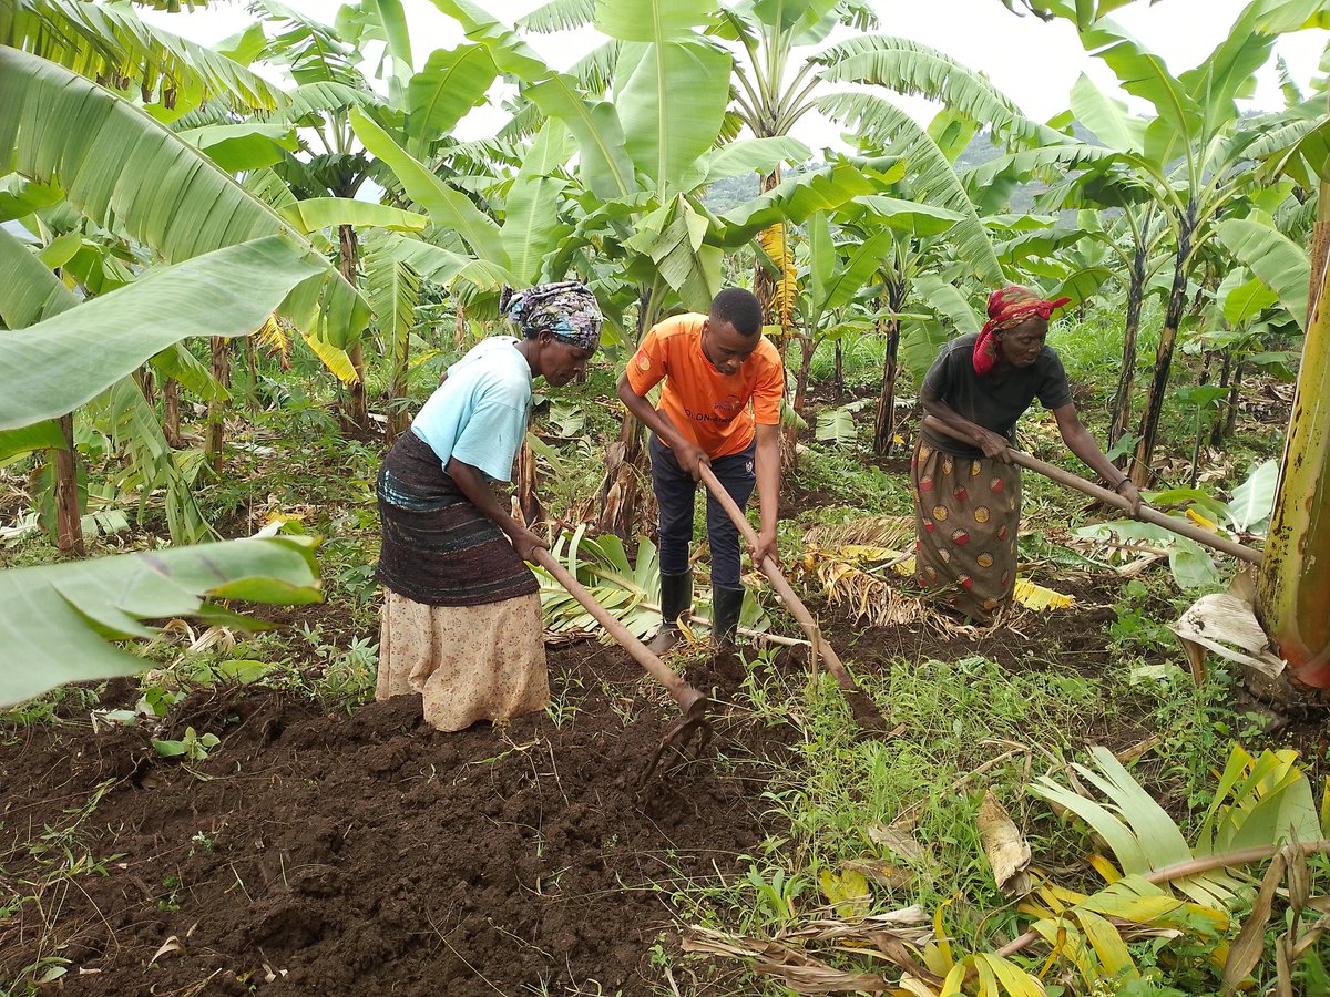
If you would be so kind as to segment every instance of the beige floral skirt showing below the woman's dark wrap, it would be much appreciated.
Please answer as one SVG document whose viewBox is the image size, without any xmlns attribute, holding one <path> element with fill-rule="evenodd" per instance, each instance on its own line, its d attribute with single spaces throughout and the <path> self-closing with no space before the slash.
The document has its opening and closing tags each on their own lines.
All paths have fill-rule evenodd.
<svg viewBox="0 0 1330 997">
<path fill-rule="evenodd" d="M 484 606 L 427 606 L 383 592 L 375 699 L 418 693 L 424 719 L 455 731 L 549 702 L 540 596 Z"/>
</svg>

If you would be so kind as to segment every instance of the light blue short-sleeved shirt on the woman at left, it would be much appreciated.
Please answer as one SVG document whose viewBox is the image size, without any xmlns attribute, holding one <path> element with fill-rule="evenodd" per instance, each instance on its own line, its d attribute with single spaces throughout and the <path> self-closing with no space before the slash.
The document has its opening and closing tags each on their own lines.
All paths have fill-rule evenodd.
<svg viewBox="0 0 1330 997">
<path fill-rule="evenodd" d="M 491 336 L 448 368 L 411 432 L 430 444 L 444 471 L 456 457 L 495 481 L 509 481 L 529 411 L 531 366 L 517 352 L 517 339 Z"/>
</svg>

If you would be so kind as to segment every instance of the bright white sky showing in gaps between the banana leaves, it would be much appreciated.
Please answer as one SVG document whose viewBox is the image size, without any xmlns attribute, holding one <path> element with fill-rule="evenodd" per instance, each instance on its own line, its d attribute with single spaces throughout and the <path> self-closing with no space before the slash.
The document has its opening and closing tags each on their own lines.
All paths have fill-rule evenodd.
<svg viewBox="0 0 1330 997">
<path fill-rule="evenodd" d="M 323 21 L 331 21 L 340 5 L 338 0 L 285 1 Z M 508 23 L 539 5 L 539 0 L 480 3 Z M 403 0 L 403 5 L 416 68 L 434 49 L 452 48 L 463 40 L 456 21 L 440 13 L 428 0 Z M 1244 0 L 1161 0 L 1157 4 L 1137 0 L 1117 11 L 1113 19 L 1149 51 L 1162 56 L 1170 72 L 1178 74 L 1205 58 L 1228 36 L 1245 5 Z M 1045 24 L 1029 15 L 1017 17 L 999 0 L 875 0 L 875 7 L 880 32 L 931 45 L 972 69 L 983 70 L 1001 92 L 1039 121 L 1065 110 L 1071 88 L 1081 72 L 1105 90 L 1117 89 L 1112 73 L 1085 55 L 1075 28 L 1067 21 Z M 142 11 L 140 16 L 205 44 L 238 32 L 253 20 L 243 4 L 218 4 L 217 0 L 193 13 Z M 833 40 L 839 37 L 843 33 L 833 36 Z M 600 36 L 592 31 L 531 37 L 532 45 L 557 68 L 571 65 L 598 40 Z M 1327 41 L 1330 32 L 1305 31 L 1283 36 L 1277 43 L 1275 53 L 1287 60 L 1293 78 L 1303 89 L 1318 76 L 1317 64 Z M 935 105 L 927 101 L 894 100 L 920 121 L 927 121 L 935 110 Z M 1137 112 L 1148 109 L 1136 98 L 1128 98 L 1128 104 Z M 1283 106 L 1273 57 L 1257 74 L 1257 93 L 1246 106 Z M 503 120 L 501 110 L 480 108 L 462 122 L 456 134 L 462 140 L 484 137 L 492 134 Z M 795 130 L 795 137 L 814 149 L 843 146 L 837 134 L 835 126 L 811 117 Z"/>
</svg>

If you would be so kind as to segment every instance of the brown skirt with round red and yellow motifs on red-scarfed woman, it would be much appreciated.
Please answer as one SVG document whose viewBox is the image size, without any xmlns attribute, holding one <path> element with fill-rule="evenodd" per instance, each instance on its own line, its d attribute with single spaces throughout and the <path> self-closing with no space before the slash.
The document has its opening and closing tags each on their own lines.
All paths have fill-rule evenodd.
<svg viewBox="0 0 1330 997">
<path fill-rule="evenodd" d="M 919 584 L 930 597 L 988 622 L 1016 586 L 1020 468 L 920 441 L 910 484 Z"/>
</svg>

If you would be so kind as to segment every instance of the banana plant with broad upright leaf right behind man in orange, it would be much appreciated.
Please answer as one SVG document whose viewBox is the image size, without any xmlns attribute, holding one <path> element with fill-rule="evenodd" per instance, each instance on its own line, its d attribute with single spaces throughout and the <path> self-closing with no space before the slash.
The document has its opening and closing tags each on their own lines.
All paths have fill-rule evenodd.
<svg viewBox="0 0 1330 997">
<path fill-rule="evenodd" d="M 568 270 L 597 275 L 608 263 L 618 275 L 606 274 L 597 287 L 618 306 L 637 304 L 637 335 L 666 310 L 705 311 L 720 290 L 725 253 L 763 227 L 831 210 L 875 193 L 890 182 L 883 175 L 899 175 L 895 162 L 837 162 L 717 218 L 701 201 L 708 183 L 769 173 L 811 153 L 787 137 L 721 144 L 732 55 L 708 37 L 705 5 L 653 0 L 644 12 L 641 4 L 609 0 L 579 13 L 593 17 L 614 43 L 609 78 L 585 81 L 551 70 L 512 28 L 467 0 L 435 3 L 462 23 L 469 40 L 488 47 L 501 72 L 521 80 L 519 98 L 563 122 L 576 144 L 579 170 L 567 187 L 571 199 L 576 195 L 568 207 L 571 230 L 544 257 L 543 279 Z M 601 525 L 626 536 L 641 457 L 633 420 L 625 420 L 610 451 Z"/>
</svg>

